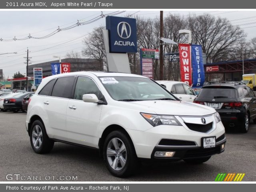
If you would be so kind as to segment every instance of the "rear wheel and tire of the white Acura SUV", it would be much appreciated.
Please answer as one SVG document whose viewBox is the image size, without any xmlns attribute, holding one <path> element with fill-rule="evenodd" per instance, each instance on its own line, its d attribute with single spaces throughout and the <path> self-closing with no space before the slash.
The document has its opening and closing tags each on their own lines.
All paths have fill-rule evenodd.
<svg viewBox="0 0 256 192">
<path fill-rule="evenodd" d="M 49 153 L 53 148 L 54 141 L 48 138 L 44 124 L 40 120 L 35 120 L 31 125 L 30 144 L 38 154 Z"/>
</svg>

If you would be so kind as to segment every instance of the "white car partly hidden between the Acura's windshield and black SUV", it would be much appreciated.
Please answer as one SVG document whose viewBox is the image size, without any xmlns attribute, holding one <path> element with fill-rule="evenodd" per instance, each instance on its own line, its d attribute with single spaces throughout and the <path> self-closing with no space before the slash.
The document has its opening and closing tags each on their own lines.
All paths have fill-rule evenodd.
<svg viewBox="0 0 256 192">
<path fill-rule="evenodd" d="M 156 81 L 160 85 L 163 85 L 168 91 L 182 101 L 193 102 L 196 97 L 196 93 L 193 89 L 184 82 L 179 81 Z"/>
</svg>

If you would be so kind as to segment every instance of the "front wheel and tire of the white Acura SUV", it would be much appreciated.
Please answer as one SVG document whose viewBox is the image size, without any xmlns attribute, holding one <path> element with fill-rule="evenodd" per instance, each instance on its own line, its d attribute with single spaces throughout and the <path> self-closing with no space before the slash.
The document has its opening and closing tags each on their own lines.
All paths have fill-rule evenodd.
<svg viewBox="0 0 256 192">
<path fill-rule="evenodd" d="M 130 176 L 138 168 L 138 158 L 132 141 L 119 130 L 111 132 L 106 137 L 103 157 L 106 167 L 116 177 Z"/>
</svg>

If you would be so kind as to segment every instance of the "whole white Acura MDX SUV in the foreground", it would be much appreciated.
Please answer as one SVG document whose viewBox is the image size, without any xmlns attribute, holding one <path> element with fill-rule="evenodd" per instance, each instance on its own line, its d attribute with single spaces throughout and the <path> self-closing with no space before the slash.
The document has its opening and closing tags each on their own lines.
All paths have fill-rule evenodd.
<svg viewBox="0 0 256 192">
<path fill-rule="evenodd" d="M 110 72 L 44 78 L 30 98 L 26 129 L 36 153 L 56 141 L 97 148 L 119 177 L 142 159 L 203 163 L 226 142 L 215 109 L 182 102 L 144 76 Z"/>
</svg>

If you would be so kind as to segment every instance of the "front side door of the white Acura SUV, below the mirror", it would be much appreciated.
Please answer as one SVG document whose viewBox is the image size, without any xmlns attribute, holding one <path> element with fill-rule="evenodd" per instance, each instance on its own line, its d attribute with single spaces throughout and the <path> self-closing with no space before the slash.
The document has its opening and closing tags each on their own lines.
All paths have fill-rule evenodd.
<svg viewBox="0 0 256 192">
<path fill-rule="evenodd" d="M 102 105 L 82 100 L 84 94 L 96 94 L 103 99 L 97 84 L 90 77 L 78 76 L 74 96 L 67 106 L 68 141 L 91 147 L 98 145 L 98 126 Z"/>
</svg>

